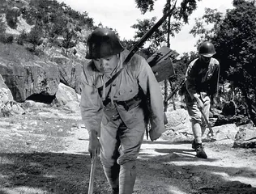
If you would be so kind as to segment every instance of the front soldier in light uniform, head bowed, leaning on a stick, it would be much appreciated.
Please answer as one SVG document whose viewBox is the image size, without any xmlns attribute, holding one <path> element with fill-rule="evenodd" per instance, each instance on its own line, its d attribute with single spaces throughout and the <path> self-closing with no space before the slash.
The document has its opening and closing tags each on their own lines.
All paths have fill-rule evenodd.
<svg viewBox="0 0 256 194">
<path fill-rule="evenodd" d="M 128 53 L 114 32 L 97 28 L 87 40 L 86 58 L 92 61 L 83 66 L 81 75 L 80 107 L 89 133 L 88 150 L 91 157 L 100 154 L 112 193 L 120 194 L 133 192 L 135 160 L 147 118 L 151 141 L 165 131 L 159 83 L 147 61 L 137 54 L 123 66 Z"/>
</svg>

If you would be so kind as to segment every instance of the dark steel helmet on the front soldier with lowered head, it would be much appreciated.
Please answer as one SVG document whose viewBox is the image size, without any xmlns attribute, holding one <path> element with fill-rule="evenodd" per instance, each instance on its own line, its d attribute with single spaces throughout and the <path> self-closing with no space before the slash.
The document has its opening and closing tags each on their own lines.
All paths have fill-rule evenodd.
<svg viewBox="0 0 256 194">
<path fill-rule="evenodd" d="M 117 35 L 108 28 L 97 28 L 87 39 L 87 59 L 109 57 L 124 50 Z"/>
</svg>

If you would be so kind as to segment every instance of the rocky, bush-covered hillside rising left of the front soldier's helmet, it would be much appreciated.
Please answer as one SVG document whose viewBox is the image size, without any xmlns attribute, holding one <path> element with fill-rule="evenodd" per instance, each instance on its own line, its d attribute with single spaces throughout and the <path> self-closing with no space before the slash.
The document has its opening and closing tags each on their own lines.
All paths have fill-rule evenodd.
<svg viewBox="0 0 256 194">
<path fill-rule="evenodd" d="M 9 101 L 51 103 L 60 83 L 80 93 L 93 19 L 55 0 L 5 0 L 0 8 L 0 74 Z"/>
</svg>

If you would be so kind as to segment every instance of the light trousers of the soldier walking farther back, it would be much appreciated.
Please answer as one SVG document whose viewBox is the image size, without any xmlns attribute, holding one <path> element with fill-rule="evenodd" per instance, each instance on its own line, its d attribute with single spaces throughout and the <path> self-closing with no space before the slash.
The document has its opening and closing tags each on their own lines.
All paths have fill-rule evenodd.
<svg viewBox="0 0 256 194">
<path fill-rule="evenodd" d="M 209 119 L 211 99 L 209 96 L 201 99 L 203 101 L 203 112 Z M 194 134 L 194 140 L 197 143 L 202 143 L 202 136 L 206 130 L 207 123 L 203 118 L 202 113 L 198 109 L 198 103 L 195 99 L 186 99 L 186 107 L 191 118 L 192 131 Z"/>
</svg>

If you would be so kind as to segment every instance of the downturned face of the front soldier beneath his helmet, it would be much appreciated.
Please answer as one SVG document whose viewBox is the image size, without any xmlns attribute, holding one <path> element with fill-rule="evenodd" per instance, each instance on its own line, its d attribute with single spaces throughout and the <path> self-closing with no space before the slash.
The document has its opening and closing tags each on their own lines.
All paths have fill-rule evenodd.
<svg viewBox="0 0 256 194">
<path fill-rule="evenodd" d="M 92 60 L 96 65 L 97 70 L 103 74 L 111 74 L 119 61 L 119 55 L 112 55 L 110 57 L 97 58 Z"/>
</svg>

